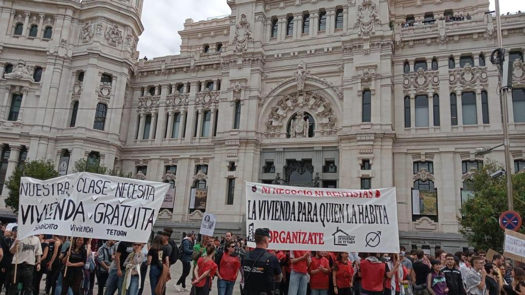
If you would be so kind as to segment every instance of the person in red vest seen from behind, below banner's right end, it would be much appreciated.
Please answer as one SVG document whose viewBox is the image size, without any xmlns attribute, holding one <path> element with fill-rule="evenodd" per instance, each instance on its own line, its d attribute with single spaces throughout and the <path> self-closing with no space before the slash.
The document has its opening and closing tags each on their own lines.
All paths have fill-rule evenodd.
<svg viewBox="0 0 525 295">
<path fill-rule="evenodd" d="M 361 295 L 383 295 L 385 264 L 375 257 L 375 253 L 369 253 L 359 265 Z"/>
</svg>

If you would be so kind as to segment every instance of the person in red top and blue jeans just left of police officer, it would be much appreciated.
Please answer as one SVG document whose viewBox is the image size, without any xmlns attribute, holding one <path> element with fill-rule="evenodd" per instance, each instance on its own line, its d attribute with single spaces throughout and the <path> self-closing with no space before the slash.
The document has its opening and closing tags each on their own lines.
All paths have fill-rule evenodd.
<svg viewBox="0 0 525 295">
<path fill-rule="evenodd" d="M 224 245 L 224 252 L 220 252 L 215 264 L 218 266 L 218 281 L 217 292 L 218 295 L 232 295 L 235 281 L 237 280 L 237 273 L 240 272 L 241 281 L 244 283 L 244 271 L 240 268 L 240 260 L 235 254 L 235 242 L 229 241 Z"/>
</svg>

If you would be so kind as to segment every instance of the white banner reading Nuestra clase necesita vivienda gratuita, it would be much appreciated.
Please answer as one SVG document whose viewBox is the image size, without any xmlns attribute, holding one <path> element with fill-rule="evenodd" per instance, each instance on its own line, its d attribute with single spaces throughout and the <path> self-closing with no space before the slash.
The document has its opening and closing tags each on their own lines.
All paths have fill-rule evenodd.
<svg viewBox="0 0 525 295">
<path fill-rule="evenodd" d="M 37 234 L 148 241 L 169 184 L 94 173 L 22 177 L 18 237 Z"/>
</svg>

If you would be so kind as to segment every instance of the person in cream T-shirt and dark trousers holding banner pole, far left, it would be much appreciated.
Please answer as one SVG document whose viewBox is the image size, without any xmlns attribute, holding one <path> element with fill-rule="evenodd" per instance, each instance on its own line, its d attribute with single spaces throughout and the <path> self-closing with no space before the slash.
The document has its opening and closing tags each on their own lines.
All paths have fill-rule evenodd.
<svg viewBox="0 0 525 295">
<path fill-rule="evenodd" d="M 14 227 L 12 231 L 17 231 L 17 227 Z M 22 283 L 23 295 L 32 295 L 35 268 L 36 271 L 40 271 L 40 255 L 42 255 L 40 240 L 35 236 L 17 238 L 10 252 L 15 255 L 13 258 L 15 268 L 8 295 L 18 293 L 18 283 Z"/>
</svg>

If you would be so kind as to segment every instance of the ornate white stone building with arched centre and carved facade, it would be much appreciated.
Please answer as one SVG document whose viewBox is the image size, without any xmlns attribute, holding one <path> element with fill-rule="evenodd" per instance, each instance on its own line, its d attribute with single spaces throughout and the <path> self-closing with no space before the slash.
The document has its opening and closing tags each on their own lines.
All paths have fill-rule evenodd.
<svg viewBox="0 0 525 295">
<path fill-rule="evenodd" d="M 158 227 L 244 231 L 244 181 L 397 187 L 401 243 L 468 247 L 464 182 L 502 142 L 486 0 L 228 0 L 181 54 L 138 59 L 142 0 L 0 0 L 0 186 L 27 159 L 170 182 Z M 525 14 L 502 18 L 525 167 Z M 6 176 L 7 175 L 7 176 Z M 7 196 L 4 187 L 2 197 Z M 393 206 L 395 204 L 392 204 Z"/>
</svg>

